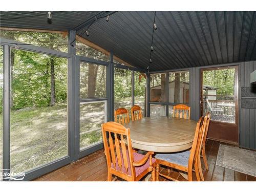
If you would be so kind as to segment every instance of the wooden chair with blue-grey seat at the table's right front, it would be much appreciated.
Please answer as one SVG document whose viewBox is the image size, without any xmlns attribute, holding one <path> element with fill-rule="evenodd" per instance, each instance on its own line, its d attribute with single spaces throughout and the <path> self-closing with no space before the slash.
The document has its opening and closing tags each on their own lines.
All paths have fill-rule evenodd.
<svg viewBox="0 0 256 192">
<path fill-rule="evenodd" d="M 202 144 L 202 139 L 205 132 L 205 125 L 206 125 L 205 118 L 200 117 L 197 123 L 194 141 L 189 151 L 183 151 L 179 153 L 170 153 L 170 154 L 159 153 L 155 156 L 157 160 L 156 162 L 156 180 L 157 181 L 159 180 L 159 175 L 167 179 L 177 181 L 176 179 L 170 176 L 160 174 L 159 173 L 160 164 L 186 172 L 188 175 L 188 181 L 193 181 L 192 172 L 194 168 L 196 172 L 197 180 L 200 181 L 200 173 L 199 173 L 200 170 L 198 168 L 200 161 L 198 161 L 198 158 L 200 158 L 201 144 Z"/>
</svg>

